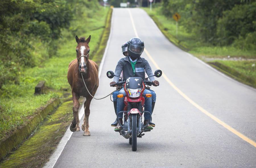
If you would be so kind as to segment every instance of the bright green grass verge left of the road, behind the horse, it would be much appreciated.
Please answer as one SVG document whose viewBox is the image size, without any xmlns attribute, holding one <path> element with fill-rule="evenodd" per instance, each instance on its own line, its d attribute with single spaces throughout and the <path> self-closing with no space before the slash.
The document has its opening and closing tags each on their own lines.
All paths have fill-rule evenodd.
<svg viewBox="0 0 256 168">
<path fill-rule="evenodd" d="M 59 97 L 63 89 L 71 90 L 67 82 L 67 69 L 69 63 L 76 58 L 75 35 L 79 37 L 91 35 L 90 59 L 93 59 L 101 42 L 109 9 L 98 6 L 97 9 L 84 8 L 84 11 L 82 16 L 71 23 L 69 29 L 62 31 L 62 38 L 55 41 L 58 44 L 56 56 L 34 68 L 20 72 L 18 83 L 9 83 L 1 88 L 0 141 L 26 124 L 36 109 L 45 105 L 51 98 Z M 90 15 L 91 13 L 93 15 Z M 48 92 L 34 96 L 34 87 L 40 80 L 46 81 Z"/>
</svg>

